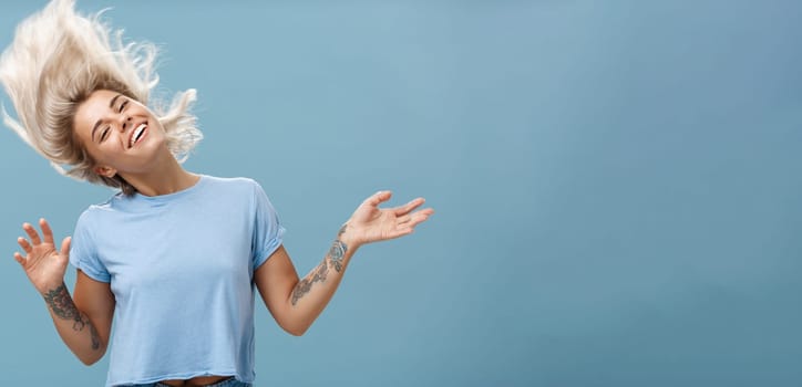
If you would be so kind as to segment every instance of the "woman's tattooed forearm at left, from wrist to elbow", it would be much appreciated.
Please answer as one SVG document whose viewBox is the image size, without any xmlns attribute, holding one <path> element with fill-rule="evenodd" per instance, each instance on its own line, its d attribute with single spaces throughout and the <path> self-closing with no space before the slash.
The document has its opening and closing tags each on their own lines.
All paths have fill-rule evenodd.
<svg viewBox="0 0 802 387">
<path fill-rule="evenodd" d="M 86 314 L 75 306 L 66 285 L 62 282 L 42 296 L 53 317 L 55 330 L 70 351 L 85 365 L 94 364 L 103 357 L 105 343 Z"/>
</svg>

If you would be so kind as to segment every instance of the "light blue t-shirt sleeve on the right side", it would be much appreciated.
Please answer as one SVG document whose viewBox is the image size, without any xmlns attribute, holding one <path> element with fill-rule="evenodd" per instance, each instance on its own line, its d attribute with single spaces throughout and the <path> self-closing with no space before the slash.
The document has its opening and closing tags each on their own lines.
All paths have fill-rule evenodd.
<svg viewBox="0 0 802 387">
<path fill-rule="evenodd" d="M 267 198 L 265 190 L 254 181 L 254 236 L 251 247 L 253 268 L 259 268 L 270 254 L 276 252 L 284 240 L 285 229 L 276 209 Z"/>
</svg>

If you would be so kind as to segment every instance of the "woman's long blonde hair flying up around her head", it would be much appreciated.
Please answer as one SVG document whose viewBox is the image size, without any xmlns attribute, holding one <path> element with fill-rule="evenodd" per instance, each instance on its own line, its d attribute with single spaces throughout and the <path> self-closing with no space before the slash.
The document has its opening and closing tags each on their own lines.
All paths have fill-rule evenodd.
<svg viewBox="0 0 802 387">
<path fill-rule="evenodd" d="M 17 27 L 13 42 L 0 56 L 0 82 L 19 121 L 4 106 L 2 116 L 60 174 L 133 195 L 135 188 L 119 175 L 107 178 L 92 170 L 94 161 L 73 130 L 79 105 L 94 91 L 110 90 L 151 106 L 165 129 L 167 147 L 183 163 L 203 139 L 189 113 L 196 93 L 177 93 L 166 109 L 161 102 L 148 103 L 158 83 L 156 46 L 124 44 L 123 31 L 112 31 L 100 20 L 102 13 L 83 17 L 73 0 L 53 0 Z"/>
</svg>

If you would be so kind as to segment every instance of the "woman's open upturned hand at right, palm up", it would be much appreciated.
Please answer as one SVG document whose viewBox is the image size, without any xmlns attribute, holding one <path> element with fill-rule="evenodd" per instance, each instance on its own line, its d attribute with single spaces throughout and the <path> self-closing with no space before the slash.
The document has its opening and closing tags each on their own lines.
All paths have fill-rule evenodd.
<svg viewBox="0 0 802 387">
<path fill-rule="evenodd" d="M 348 231 L 358 244 L 378 242 L 412 233 L 415 226 L 434 213 L 431 208 L 415 211 L 425 201 L 417 198 L 394 208 L 379 208 L 390 199 L 390 191 L 379 191 L 366 199 L 348 220 Z"/>
</svg>

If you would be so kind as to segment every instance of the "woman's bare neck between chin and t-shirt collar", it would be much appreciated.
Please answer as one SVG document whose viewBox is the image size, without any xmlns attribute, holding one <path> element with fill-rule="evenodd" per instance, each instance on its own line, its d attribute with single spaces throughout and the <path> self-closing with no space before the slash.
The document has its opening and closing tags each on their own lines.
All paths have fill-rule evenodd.
<svg viewBox="0 0 802 387">
<path fill-rule="evenodd" d="M 161 168 L 144 174 L 125 174 L 125 181 L 144 196 L 161 196 L 185 190 L 200 177 L 186 171 L 175 158 Z"/>
</svg>

